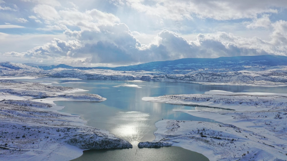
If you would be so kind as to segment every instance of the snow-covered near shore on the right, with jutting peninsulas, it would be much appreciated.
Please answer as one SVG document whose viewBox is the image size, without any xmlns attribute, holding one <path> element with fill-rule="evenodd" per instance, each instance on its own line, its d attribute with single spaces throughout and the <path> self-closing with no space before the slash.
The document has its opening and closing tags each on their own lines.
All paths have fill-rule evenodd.
<svg viewBox="0 0 287 161">
<path fill-rule="evenodd" d="M 161 120 L 154 141 L 199 152 L 210 160 L 287 159 L 287 94 L 213 90 L 143 100 L 232 109 L 174 110 L 221 123 Z"/>
</svg>

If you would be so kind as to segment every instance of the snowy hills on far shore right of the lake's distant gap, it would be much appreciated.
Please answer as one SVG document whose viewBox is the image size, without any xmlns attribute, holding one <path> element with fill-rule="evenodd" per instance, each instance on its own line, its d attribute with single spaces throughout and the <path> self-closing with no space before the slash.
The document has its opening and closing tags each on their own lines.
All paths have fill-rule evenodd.
<svg viewBox="0 0 287 161">
<path fill-rule="evenodd" d="M 142 77 L 145 81 L 200 82 L 221 84 L 286 85 L 287 66 L 264 71 L 231 71 L 224 73 L 188 73 Z M 278 68 L 278 69 L 277 69 Z"/>
</svg>

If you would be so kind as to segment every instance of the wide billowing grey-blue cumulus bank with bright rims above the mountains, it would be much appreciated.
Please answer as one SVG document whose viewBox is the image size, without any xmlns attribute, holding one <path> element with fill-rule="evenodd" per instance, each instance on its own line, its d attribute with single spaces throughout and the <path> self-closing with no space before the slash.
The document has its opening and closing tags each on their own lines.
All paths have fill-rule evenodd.
<svg viewBox="0 0 287 161">
<path fill-rule="evenodd" d="M 199 34 L 196 41 L 187 41 L 174 32 L 163 30 L 155 37 L 155 41 L 147 46 L 141 45 L 125 24 L 102 25 L 99 29 L 100 31 L 81 32 L 67 30 L 65 33 L 69 37 L 77 39 L 66 41 L 54 39 L 51 43 L 37 46 L 27 52 L 13 54 L 22 55 L 25 58 L 42 59 L 44 63 L 49 59 L 57 59 L 61 62 L 73 60 L 77 65 L 81 65 L 79 63 L 125 65 L 185 57 L 267 54 L 259 48 L 241 47 L 240 43 L 236 45 L 220 41 L 219 39 L 222 40 L 224 36 L 224 39 L 230 39 L 229 42 L 238 41 L 238 37 L 232 37 L 226 33 L 222 33 L 221 37 Z M 5 54 L 11 55 L 11 53 Z"/>
</svg>

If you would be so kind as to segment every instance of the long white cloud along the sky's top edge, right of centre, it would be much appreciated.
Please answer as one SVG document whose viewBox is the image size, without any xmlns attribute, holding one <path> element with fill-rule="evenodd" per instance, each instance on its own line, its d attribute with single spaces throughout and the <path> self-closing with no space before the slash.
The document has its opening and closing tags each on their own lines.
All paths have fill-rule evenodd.
<svg viewBox="0 0 287 161">
<path fill-rule="evenodd" d="M 262 13 L 277 13 L 272 7 L 287 7 L 285 1 L 236 1 L 236 0 L 112 0 L 116 5 L 129 6 L 138 12 L 172 20 L 192 19 L 192 17 L 230 20 L 255 18 Z"/>
</svg>

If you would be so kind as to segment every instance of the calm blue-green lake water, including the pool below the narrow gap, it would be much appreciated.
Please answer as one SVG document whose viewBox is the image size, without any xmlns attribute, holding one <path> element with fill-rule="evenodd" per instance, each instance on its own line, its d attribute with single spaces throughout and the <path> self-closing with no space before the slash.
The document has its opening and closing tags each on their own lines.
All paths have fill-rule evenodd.
<svg viewBox="0 0 287 161">
<path fill-rule="evenodd" d="M 40 80 L 51 82 L 51 80 Z M 39 79 L 35 82 L 40 82 Z M 65 106 L 61 112 L 80 115 L 86 125 L 106 129 L 117 137 L 133 144 L 130 149 L 87 150 L 75 160 L 208 160 L 199 153 L 179 147 L 137 148 L 141 141 L 152 141 L 155 123 L 161 119 L 195 120 L 215 122 L 198 118 L 173 109 L 193 109 L 191 106 L 171 105 L 142 101 L 143 97 L 165 94 L 203 94 L 210 90 L 230 92 L 286 93 L 287 87 L 201 85 L 176 82 L 102 81 L 102 80 L 55 80 L 53 85 L 88 90 L 107 98 L 103 102 L 57 101 Z"/>
</svg>

